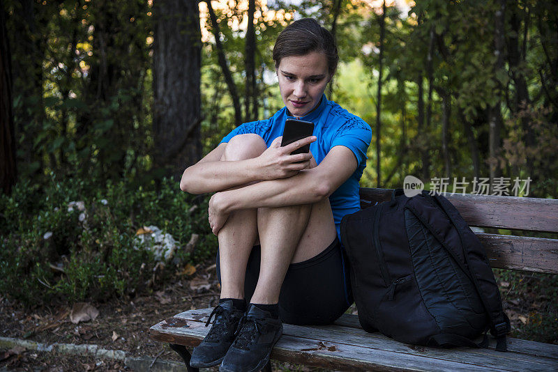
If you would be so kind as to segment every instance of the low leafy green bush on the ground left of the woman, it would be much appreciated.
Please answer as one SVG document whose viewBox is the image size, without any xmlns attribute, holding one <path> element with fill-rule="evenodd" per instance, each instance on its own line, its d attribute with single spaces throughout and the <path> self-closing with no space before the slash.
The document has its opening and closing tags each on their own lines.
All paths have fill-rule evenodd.
<svg viewBox="0 0 558 372">
<path fill-rule="evenodd" d="M 177 266 L 215 256 L 208 200 L 183 194 L 167 179 L 138 188 L 126 181 L 99 188 L 55 176 L 43 189 L 20 183 L 11 196 L 0 196 L 0 293 L 28 305 L 135 295 Z M 136 231 L 149 225 L 178 242 L 171 263 L 157 265 L 141 247 Z M 193 233 L 199 242 L 187 254 L 183 247 Z"/>
</svg>

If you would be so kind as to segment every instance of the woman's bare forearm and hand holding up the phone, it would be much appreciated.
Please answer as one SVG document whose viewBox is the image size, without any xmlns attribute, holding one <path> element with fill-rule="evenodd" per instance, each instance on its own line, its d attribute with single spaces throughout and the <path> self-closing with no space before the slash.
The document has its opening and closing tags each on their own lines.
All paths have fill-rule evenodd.
<svg viewBox="0 0 558 372">
<path fill-rule="evenodd" d="M 180 188 L 190 194 L 202 194 L 259 180 L 294 176 L 308 166 L 311 155 L 290 153 L 315 140 L 316 137 L 312 136 L 281 147 L 281 137 L 278 137 L 259 157 L 239 161 L 222 161 L 227 144 L 220 144 L 183 172 Z"/>
</svg>

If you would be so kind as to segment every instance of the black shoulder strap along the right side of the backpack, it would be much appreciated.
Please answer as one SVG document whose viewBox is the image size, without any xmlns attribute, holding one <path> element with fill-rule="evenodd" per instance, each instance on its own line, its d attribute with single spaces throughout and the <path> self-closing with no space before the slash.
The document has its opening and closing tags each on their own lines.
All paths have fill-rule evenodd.
<svg viewBox="0 0 558 372">
<path fill-rule="evenodd" d="M 506 334 L 511 330 L 510 320 L 502 309 L 500 291 L 494 280 L 494 273 L 488 263 L 485 249 L 448 199 L 439 194 L 435 194 L 433 197 L 429 194 L 429 196 L 437 201 L 459 233 L 467 268 L 490 318 L 490 333 L 496 338 L 496 350 L 506 351 Z"/>
</svg>

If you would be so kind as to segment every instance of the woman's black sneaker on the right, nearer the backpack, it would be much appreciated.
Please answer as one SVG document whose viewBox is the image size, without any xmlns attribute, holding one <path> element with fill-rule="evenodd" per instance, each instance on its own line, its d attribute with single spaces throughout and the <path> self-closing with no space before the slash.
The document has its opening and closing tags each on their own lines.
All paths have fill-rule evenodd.
<svg viewBox="0 0 558 372">
<path fill-rule="evenodd" d="M 282 332 L 280 319 L 273 318 L 271 313 L 250 304 L 219 371 L 255 372 L 263 369 Z"/>
</svg>

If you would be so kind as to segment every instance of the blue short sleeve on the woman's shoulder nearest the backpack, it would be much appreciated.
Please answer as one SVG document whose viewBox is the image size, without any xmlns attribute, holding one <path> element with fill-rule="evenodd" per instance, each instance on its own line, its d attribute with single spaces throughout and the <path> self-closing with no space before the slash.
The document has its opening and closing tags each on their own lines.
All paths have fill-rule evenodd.
<svg viewBox="0 0 558 372">
<path fill-rule="evenodd" d="M 348 118 L 335 133 L 335 137 L 331 142 L 331 148 L 334 146 L 345 146 L 354 153 L 356 162 L 363 164 L 368 159 L 366 153 L 371 140 L 372 130 L 370 125 L 361 118 L 354 116 Z"/>
</svg>

